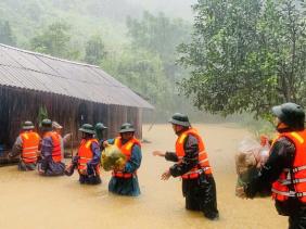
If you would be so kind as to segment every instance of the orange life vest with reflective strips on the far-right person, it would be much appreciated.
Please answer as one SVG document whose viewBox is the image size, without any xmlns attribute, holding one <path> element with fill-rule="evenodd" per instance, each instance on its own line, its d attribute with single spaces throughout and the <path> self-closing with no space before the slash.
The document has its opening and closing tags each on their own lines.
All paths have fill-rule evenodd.
<svg viewBox="0 0 306 229">
<path fill-rule="evenodd" d="M 294 143 L 295 157 L 292 168 L 285 168 L 272 183 L 272 198 L 281 202 L 289 198 L 297 198 L 306 203 L 306 130 L 283 132 L 277 140 L 282 137 Z"/>
</svg>

